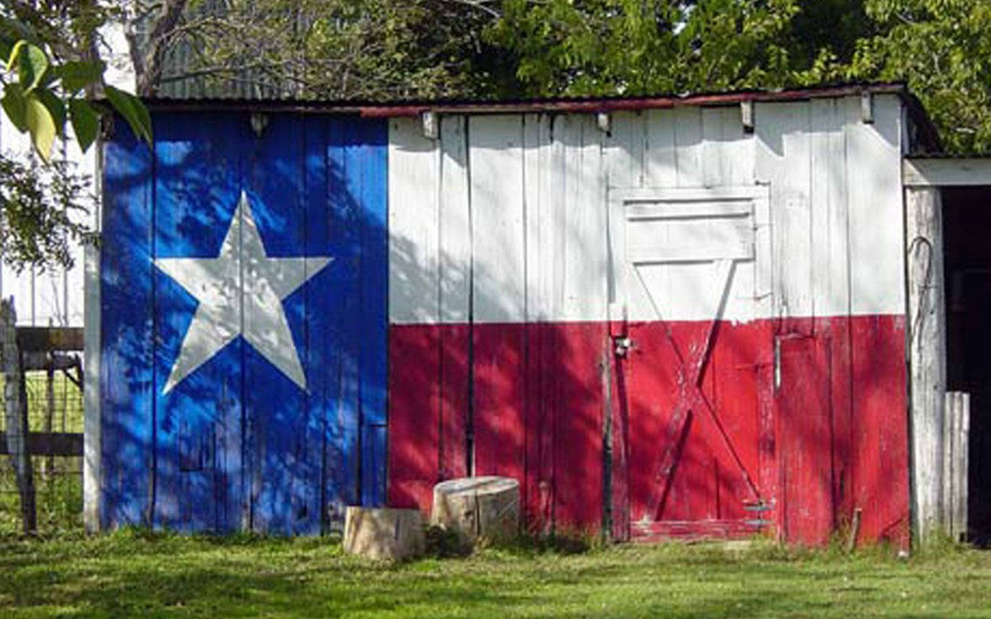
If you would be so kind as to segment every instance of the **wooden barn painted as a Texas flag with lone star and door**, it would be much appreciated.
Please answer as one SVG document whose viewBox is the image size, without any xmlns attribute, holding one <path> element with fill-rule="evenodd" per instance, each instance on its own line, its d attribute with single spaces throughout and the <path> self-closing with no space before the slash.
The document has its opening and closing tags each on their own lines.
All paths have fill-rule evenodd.
<svg viewBox="0 0 991 619">
<path fill-rule="evenodd" d="M 902 85 L 148 104 L 154 148 L 118 122 L 99 162 L 91 529 L 320 534 L 472 474 L 533 533 L 951 519 L 913 323 L 939 143 Z"/>
</svg>

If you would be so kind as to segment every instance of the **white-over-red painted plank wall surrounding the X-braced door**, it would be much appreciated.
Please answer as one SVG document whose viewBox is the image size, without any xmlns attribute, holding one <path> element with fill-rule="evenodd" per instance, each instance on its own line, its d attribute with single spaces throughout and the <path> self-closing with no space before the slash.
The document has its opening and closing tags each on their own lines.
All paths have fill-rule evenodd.
<svg viewBox="0 0 991 619">
<path fill-rule="evenodd" d="M 860 510 L 865 537 L 903 540 L 902 107 L 893 95 L 873 106 L 865 124 L 857 97 L 757 103 L 753 134 L 737 107 L 615 113 L 608 134 L 592 115 L 450 116 L 436 141 L 414 120 L 391 120 L 390 502 L 427 509 L 440 479 L 508 474 L 523 481 L 532 527 L 598 528 L 604 490 L 616 487 L 606 480 L 606 418 L 622 397 L 624 500 L 645 501 L 649 479 L 638 486 L 636 473 L 660 435 L 646 413 L 634 423 L 635 411 L 670 394 L 645 391 L 649 381 L 625 396 L 615 389 L 609 196 L 760 183 L 771 196 L 771 302 L 758 316 L 728 312 L 719 338 L 751 338 L 762 351 L 751 362 L 775 363 L 764 380 L 774 385 L 748 387 L 774 388 L 773 423 L 800 414 L 790 401 L 825 398 L 828 436 L 814 450 L 809 437 L 789 440 L 813 450 L 804 465 L 825 471 L 831 526 Z M 683 294 L 686 315 L 669 321 L 697 319 L 695 292 Z M 648 310 L 632 302 L 628 318 L 649 322 Z M 787 352 L 798 339 L 811 347 L 807 361 L 782 367 L 782 343 Z M 726 367 L 711 370 L 716 383 L 735 380 Z M 788 371 L 819 382 L 803 393 L 808 381 Z M 801 417 L 787 423 L 806 427 Z M 792 477 L 779 447 L 755 467 L 766 467 L 762 482 L 780 502 Z"/>
</svg>

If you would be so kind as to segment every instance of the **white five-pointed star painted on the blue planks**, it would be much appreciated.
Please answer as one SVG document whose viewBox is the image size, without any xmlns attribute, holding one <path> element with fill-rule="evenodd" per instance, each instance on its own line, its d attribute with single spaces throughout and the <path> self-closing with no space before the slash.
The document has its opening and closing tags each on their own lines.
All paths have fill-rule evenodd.
<svg viewBox="0 0 991 619">
<path fill-rule="evenodd" d="M 198 305 L 163 393 L 239 335 L 283 374 L 306 388 L 306 375 L 285 320 L 282 299 L 333 258 L 269 258 L 241 192 L 217 258 L 157 258 L 155 265 Z"/>
</svg>

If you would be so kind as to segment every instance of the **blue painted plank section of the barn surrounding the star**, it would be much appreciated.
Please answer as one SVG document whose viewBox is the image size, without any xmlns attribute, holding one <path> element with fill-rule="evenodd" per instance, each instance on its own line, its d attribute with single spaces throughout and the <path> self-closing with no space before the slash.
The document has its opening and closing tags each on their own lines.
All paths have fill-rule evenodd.
<svg viewBox="0 0 991 619">
<path fill-rule="evenodd" d="M 155 115 L 106 146 L 102 518 L 316 534 L 385 500 L 383 120 Z M 215 258 L 244 191 L 269 257 L 333 260 L 282 300 L 301 389 L 236 338 L 170 390 L 197 300 L 155 258 Z"/>
</svg>

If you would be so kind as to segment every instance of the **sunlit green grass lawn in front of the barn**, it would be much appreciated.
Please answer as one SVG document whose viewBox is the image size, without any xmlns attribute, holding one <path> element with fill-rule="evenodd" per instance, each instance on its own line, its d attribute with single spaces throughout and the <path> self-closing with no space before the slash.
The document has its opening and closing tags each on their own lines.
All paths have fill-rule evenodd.
<svg viewBox="0 0 991 619">
<path fill-rule="evenodd" d="M 769 543 L 564 555 L 486 549 L 398 566 L 320 539 L 121 532 L 0 541 L 0 616 L 989 616 L 991 554 Z"/>
</svg>

